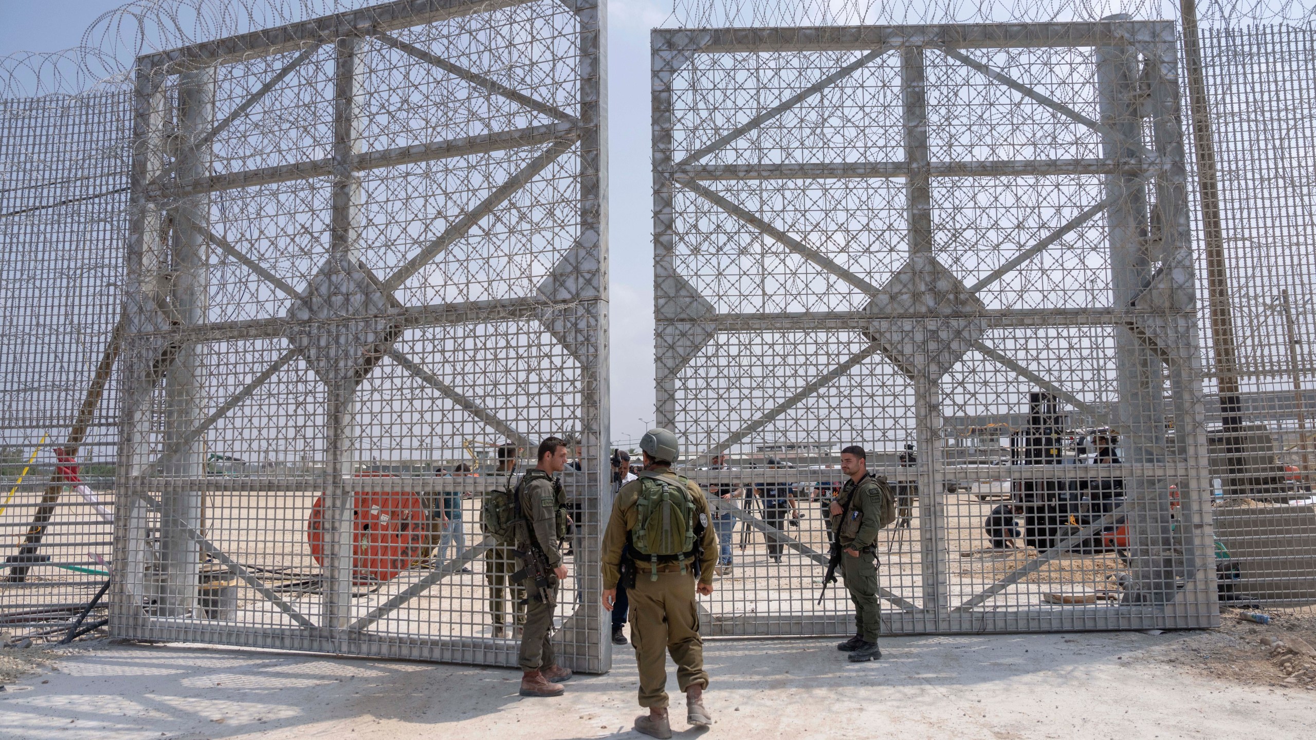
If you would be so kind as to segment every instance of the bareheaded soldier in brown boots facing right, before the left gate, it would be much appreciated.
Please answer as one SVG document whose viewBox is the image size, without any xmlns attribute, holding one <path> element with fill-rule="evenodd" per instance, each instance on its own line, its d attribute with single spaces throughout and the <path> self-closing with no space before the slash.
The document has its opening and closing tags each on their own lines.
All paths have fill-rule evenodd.
<svg viewBox="0 0 1316 740">
<path fill-rule="evenodd" d="M 517 527 L 517 550 L 533 550 L 553 573 L 549 575 L 547 599 L 541 598 L 530 574 L 521 581 L 526 595 L 525 628 L 521 632 L 521 695 L 559 697 L 562 682 L 571 678 L 571 670 L 558 665 L 553 654 L 549 632 L 553 629 L 553 610 L 558 600 L 558 583 L 567 577 L 562 562 L 561 542 L 566 536 L 566 495 L 555 478 L 567 463 L 567 445 L 557 437 L 540 442 L 540 463 L 525 474 L 517 490 L 525 523 Z M 517 573 L 525 561 L 517 558 Z"/>
</svg>

